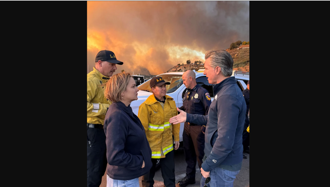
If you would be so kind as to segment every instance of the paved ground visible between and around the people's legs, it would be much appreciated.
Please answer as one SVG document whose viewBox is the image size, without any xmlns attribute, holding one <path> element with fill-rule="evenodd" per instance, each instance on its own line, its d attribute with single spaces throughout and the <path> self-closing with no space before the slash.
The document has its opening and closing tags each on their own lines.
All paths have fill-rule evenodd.
<svg viewBox="0 0 330 187">
<path fill-rule="evenodd" d="M 184 159 L 184 152 L 182 147 L 180 147 L 178 150 L 175 150 L 175 179 L 176 184 L 179 182 L 180 179 L 182 179 L 185 176 L 185 169 L 186 169 L 186 162 Z M 240 173 L 237 175 L 235 181 L 234 181 L 234 187 L 249 187 L 250 186 L 250 155 L 247 155 L 247 159 L 243 159 L 243 166 Z M 141 178 L 140 177 L 140 186 L 141 185 Z M 198 165 L 196 164 L 196 184 L 188 185 L 187 187 L 199 187 L 200 181 L 202 178 L 202 174 L 199 171 Z M 161 187 L 164 185 L 163 178 L 161 171 L 158 170 L 154 177 L 155 184 L 154 187 Z M 107 174 L 104 174 L 102 178 L 102 184 L 100 187 L 106 187 L 107 186 Z M 179 185 L 177 184 L 177 187 Z"/>
</svg>

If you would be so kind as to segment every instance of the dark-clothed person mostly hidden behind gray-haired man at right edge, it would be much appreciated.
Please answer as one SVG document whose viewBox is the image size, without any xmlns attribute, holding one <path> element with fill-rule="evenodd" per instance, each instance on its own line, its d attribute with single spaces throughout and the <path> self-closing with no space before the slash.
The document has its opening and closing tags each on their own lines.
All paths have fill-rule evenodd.
<svg viewBox="0 0 330 187">
<path fill-rule="evenodd" d="M 250 154 L 250 148 L 248 147 L 250 145 L 250 133 L 247 132 L 247 128 L 250 125 L 250 121 L 248 119 L 248 112 L 250 109 L 250 81 L 248 81 L 247 89 L 245 89 L 242 93 L 245 99 L 245 102 L 247 104 L 247 112 L 245 115 L 245 123 L 244 123 L 244 129 L 243 129 L 243 152 Z M 244 155 L 243 155 L 244 157 Z"/>
</svg>

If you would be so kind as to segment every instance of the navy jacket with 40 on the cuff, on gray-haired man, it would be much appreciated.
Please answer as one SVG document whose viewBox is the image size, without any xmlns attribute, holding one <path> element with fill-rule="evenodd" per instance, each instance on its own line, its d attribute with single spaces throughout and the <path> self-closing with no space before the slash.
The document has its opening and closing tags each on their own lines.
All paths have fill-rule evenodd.
<svg viewBox="0 0 330 187">
<path fill-rule="evenodd" d="M 207 124 L 205 155 L 202 164 L 209 172 L 219 165 L 235 165 L 243 161 L 242 132 L 247 106 L 242 91 L 229 77 L 213 88 L 216 93 L 208 116 L 187 114 L 188 122 Z"/>
</svg>

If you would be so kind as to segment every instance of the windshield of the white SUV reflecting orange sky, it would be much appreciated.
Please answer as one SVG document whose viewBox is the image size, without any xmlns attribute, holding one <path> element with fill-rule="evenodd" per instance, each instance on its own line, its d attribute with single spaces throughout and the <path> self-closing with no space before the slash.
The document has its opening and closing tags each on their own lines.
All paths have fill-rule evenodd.
<svg viewBox="0 0 330 187">
<path fill-rule="evenodd" d="M 182 75 L 166 74 L 166 75 L 160 75 L 160 76 L 164 79 L 165 82 L 171 83 L 170 85 L 166 85 L 167 94 L 175 92 L 183 84 Z M 150 80 L 151 79 L 149 79 L 143 85 L 140 85 L 138 87 L 138 89 L 142 90 L 142 91 L 151 92 Z"/>
</svg>

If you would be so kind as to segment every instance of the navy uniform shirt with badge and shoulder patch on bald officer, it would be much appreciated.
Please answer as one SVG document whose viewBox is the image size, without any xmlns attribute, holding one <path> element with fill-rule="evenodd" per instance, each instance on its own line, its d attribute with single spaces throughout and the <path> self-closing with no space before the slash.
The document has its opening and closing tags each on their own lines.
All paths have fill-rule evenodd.
<svg viewBox="0 0 330 187">
<path fill-rule="evenodd" d="M 189 114 L 207 115 L 211 105 L 211 96 L 205 88 L 197 84 L 193 89 L 187 90 L 182 101 L 180 110 Z M 188 125 L 188 123 L 184 124 Z M 190 125 L 196 124 L 190 123 Z M 201 127 L 201 130 L 205 132 L 205 127 Z"/>
</svg>

